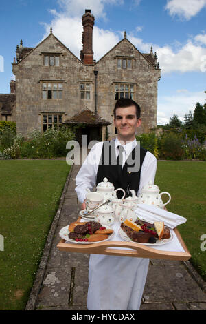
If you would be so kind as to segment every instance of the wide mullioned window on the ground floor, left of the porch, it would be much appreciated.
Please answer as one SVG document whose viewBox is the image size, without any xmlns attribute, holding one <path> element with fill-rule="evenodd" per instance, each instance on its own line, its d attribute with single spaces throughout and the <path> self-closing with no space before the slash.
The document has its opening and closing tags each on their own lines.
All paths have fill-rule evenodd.
<svg viewBox="0 0 206 324">
<path fill-rule="evenodd" d="M 64 115 L 64 112 L 41 112 L 41 131 L 46 132 L 49 128 L 59 130 Z"/>
</svg>

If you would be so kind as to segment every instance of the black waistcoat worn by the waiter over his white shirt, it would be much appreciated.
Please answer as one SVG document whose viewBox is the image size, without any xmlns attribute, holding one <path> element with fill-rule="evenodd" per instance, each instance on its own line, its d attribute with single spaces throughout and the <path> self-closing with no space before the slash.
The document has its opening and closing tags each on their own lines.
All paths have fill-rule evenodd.
<svg viewBox="0 0 206 324">
<path fill-rule="evenodd" d="M 130 195 L 129 189 L 133 189 L 137 193 L 139 189 L 141 165 L 144 161 L 146 152 L 147 150 L 144 148 L 141 148 L 138 145 L 135 146 L 128 156 L 128 159 L 122 168 L 122 172 L 119 172 L 115 154 L 115 141 L 104 141 L 96 185 L 102 182 L 106 177 L 109 182 L 113 183 L 115 189 L 124 189 L 126 196 Z M 122 192 L 117 192 L 117 196 L 118 198 L 121 198 Z"/>
</svg>

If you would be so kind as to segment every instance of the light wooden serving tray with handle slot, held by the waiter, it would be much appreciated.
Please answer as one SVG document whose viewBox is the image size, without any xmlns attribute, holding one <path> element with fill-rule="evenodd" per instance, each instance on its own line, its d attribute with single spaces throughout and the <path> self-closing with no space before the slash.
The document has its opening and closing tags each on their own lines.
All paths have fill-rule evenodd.
<svg viewBox="0 0 206 324">
<path fill-rule="evenodd" d="M 181 234 L 175 228 L 174 232 L 179 239 L 185 252 L 170 252 L 161 251 L 149 247 L 148 245 L 141 245 L 135 242 L 124 242 L 124 241 L 105 241 L 93 244 L 76 244 L 76 243 L 65 243 L 66 241 L 61 239 L 57 247 L 60 251 L 66 252 L 79 252 L 89 254 L 106 254 L 115 256 L 133 256 L 137 258 L 148 258 L 148 259 L 165 259 L 165 260 L 180 260 L 187 261 L 191 258 L 190 252 L 183 241 Z M 118 247 L 118 249 L 111 247 Z M 124 249 L 121 249 L 124 247 Z M 133 250 L 125 250 L 133 249 Z"/>
</svg>

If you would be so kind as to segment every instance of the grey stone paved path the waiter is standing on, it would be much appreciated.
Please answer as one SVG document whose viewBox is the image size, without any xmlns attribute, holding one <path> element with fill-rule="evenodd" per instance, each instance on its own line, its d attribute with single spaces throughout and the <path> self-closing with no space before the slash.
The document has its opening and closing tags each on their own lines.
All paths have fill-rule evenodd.
<svg viewBox="0 0 206 324">
<path fill-rule="evenodd" d="M 49 232 L 45 250 L 26 310 L 87 310 L 89 254 L 60 252 L 58 232 L 76 221 L 73 165 L 60 207 Z M 206 310 L 206 285 L 189 261 L 150 260 L 141 310 Z"/>
</svg>

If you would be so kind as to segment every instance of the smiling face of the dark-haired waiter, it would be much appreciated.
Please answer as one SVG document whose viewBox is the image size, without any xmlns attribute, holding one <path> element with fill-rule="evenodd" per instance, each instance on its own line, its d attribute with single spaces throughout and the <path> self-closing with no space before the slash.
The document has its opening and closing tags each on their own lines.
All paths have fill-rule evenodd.
<svg viewBox="0 0 206 324">
<path fill-rule="evenodd" d="M 118 139 L 133 141 L 137 127 L 141 125 L 141 119 L 137 119 L 135 105 L 117 108 L 114 125 L 117 128 Z"/>
</svg>

